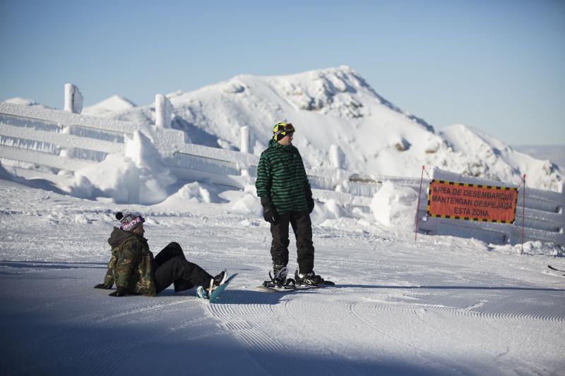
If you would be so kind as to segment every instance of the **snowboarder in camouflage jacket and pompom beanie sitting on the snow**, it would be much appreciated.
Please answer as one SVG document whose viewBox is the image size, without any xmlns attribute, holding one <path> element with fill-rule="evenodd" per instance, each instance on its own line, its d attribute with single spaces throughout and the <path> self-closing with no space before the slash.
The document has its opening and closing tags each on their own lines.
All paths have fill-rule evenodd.
<svg viewBox="0 0 565 376">
<path fill-rule="evenodd" d="M 196 286 L 212 289 L 222 284 L 227 272 L 212 277 L 206 270 L 186 260 L 179 243 L 169 243 L 153 257 L 147 239 L 143 238 L 143 222 L 140 214 L 122 214 L 116 219 L 121 222 L 114 227 L 108 239 L 112 247 L 112 256 L 104 283 L 95 289 L 112 289 L 114 282 L 117 290 L 110 296 L 145 295 L 155 296 L 174 284 L 174 291 L 184 291 Z"/>
</svg>

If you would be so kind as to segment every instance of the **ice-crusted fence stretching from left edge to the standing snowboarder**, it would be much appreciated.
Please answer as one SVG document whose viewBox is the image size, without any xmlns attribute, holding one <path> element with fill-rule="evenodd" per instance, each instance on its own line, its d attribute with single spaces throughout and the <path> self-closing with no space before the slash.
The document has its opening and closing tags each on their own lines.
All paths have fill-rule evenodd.
<svg viewBox="0 0 565 376">
<path fill-rule="evenodd" d="M 241 183 L 230 176 L 253 171 L 258 162 L 252 154 L 186 144 L 184 132 L 170 128 L 0 102 L 0 158 L 20 164 L 76 171 L 108 154 L 124 154 L 126 138 L 135 131 L 145 133 L 167 166 L 184 179 L 208 178 L 239 188 Z"/>
</svg>

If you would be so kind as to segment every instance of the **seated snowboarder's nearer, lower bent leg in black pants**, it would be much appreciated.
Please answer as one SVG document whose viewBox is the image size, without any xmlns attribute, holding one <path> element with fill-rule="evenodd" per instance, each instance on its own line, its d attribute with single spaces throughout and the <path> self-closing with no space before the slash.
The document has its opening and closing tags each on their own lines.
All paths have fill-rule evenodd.
<svg viewBox="0 0 565 376">
<path fill-rule="evenodd" d="M 175 256 L 155 269 L 155 287 L 157 293 L 174 284 L 174 291 L 192 289 L 194 286 L 208 287 L 213 277 L 193 262 Z"/>
</svg>

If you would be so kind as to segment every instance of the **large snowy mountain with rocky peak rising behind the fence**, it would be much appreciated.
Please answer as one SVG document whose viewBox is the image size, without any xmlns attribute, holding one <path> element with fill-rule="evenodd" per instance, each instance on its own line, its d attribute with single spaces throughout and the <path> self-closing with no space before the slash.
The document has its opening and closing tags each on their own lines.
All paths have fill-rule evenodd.
<svg viewBox="0 0 565 376">
<path fill-rule="evenodd" d="M 203 145 L 237 149 L 239 128 L 249 126 L 259 154 L 273 124 L 291 121 L 297 129 L 294 143 L 312 166 L 328 166 L 328 150 L 335 144 L 343 150 L 345 169 L 363 175 L 418 176 L 426 165 L 509 183 L 526 174 L 530 186 L 550 190 L 564 180 L 559 166 L 470 127 L 436 132 L 378 95 L 348 66 L 284 76 L 238 75 L 167 97 L 176 115 L 172 126 Z M 112 117 L 153 123 L 154 114 L 151 104 L 119 109 Z"/>
</svg>

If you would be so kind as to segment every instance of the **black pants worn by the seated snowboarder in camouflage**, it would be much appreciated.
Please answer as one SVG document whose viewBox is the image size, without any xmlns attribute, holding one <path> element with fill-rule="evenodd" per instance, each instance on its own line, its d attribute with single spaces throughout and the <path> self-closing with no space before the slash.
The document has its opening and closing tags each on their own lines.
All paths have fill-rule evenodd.
<svg viewBox="0 0 565 376">
<path fill-rule="evenodd" d="M 179 243 L 169 243 L 153 259 L 153 274 L 157 293 L 174 284 L 174 291 L 184 291 L 195 286 L 210 286 L 213 277 L 184 257 Z"/>
</svg>

